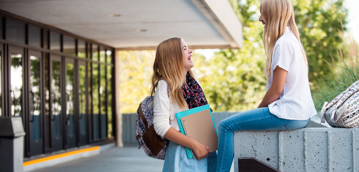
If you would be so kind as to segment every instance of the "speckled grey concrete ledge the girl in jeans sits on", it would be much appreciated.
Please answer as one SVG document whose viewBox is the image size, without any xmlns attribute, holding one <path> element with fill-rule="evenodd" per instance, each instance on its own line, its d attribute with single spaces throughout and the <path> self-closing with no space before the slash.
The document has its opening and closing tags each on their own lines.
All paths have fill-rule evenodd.
<svg viewBox="0 0 359 172">
<path fill-rule="evenodd" d="M 356 172 L 359 128 L 243 130 L 234 133 L 238 158 L 255 157 L 282 172 Z"/>
</svg>

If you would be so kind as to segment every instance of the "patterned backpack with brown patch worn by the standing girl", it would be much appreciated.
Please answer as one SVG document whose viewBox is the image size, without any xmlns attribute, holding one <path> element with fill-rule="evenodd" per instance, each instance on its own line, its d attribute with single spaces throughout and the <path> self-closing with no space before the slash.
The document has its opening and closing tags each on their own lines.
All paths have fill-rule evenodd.
<svg viewBox="0 0 359 172">
<path fill-rule="evenodd" d="M 167 95 L 171 100 L 169 91 L 168 85 Z M 159 136 L 153 128 L 153 97 L 147 96 L 137 109 L 136 139 L 149 157 L 164 160 L 168 140 Z"/>
</svg>

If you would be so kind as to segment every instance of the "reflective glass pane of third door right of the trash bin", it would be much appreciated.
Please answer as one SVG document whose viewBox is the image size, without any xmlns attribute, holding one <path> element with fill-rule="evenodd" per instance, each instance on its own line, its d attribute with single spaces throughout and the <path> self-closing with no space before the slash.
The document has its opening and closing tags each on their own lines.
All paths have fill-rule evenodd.
<svg viewBox="0 0 359 172">
<path fill-rule="evenodd" d="M 66 122 L 67 136 L 74 137 L 74 64 L 66 63 Z"/>
</svg>

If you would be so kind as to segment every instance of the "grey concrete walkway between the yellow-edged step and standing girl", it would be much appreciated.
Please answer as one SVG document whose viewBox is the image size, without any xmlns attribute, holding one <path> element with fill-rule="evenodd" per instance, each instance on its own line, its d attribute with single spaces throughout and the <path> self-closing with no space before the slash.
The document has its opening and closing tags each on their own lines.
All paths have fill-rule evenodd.
<svg viewBox="0 0 359 172">
<path fill-rule="evenodd" d="M 138 147 L 112 147 L 97 156 L 77 159 L 36 172 L 162 172 L 163 160 L 148 157 Z M 35 172 L 34 171 L 34 172 Z M 231 168 L 233 172 L 233 164 Z"/>
</svg>

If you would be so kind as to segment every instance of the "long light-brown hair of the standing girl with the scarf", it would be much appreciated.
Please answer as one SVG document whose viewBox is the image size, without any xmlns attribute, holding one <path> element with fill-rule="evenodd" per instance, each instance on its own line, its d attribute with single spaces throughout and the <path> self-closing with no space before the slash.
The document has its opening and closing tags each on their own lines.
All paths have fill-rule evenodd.
<svg viewBox="0 0 359 172">
<path fill-rule="evenodd" d="M 182 38 L 169 38 L 158 44 L 155 61 L 153 63 L 153 75 L 151 76 L 151 96 L 154 95 L 159 80 L 165 80 L 171 88 L 171 98 L 181 108 L 187 107 L 182 93 L 183 82 Z M 188 73 L 195 79 L 192 70 Z M 198 80 L 197 80 L 198 82 Z"/>
</svg>

